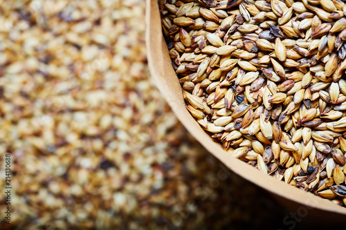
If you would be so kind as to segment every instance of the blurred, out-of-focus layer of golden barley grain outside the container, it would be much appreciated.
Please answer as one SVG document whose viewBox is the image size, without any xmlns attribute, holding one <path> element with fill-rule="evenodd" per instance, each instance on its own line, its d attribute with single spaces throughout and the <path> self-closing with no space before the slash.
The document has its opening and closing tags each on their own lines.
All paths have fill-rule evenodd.
<svg viewBox="0 0 346 230">
<path fill-rule="evenodd" d="M 283 226 L 289 211 L 225 170 L 154 86 L 144 0 L 0 1 L 0 12 L 0 154 L 12 155 L 1 229 Z"/>
</svg>

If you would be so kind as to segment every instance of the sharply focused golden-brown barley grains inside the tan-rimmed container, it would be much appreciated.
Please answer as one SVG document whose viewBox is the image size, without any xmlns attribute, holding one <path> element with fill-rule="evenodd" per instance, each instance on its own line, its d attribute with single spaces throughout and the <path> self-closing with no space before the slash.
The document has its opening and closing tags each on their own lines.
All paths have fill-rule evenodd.
<svg viewBox="0 0 346 230">
<path fill-rule="evenodd" d="M 186 108 L 228 153 L 346 205 L 341 0 L 162 0 Z"/>
</svg>

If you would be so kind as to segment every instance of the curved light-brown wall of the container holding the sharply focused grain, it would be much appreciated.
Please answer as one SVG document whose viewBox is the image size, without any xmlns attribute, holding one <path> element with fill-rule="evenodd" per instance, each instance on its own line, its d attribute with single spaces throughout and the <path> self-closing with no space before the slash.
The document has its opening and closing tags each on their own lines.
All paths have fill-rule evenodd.
<svg viewBox="0 0 346 230">
<path fill-rule="evenodd" d="M 212 155 L 215 155 L 222 163 L 228 166 L 231 171 L 272 193 L 278 202 L 291 209 L 301 220 L 313 219 L 311 224 L 317 224 L 318 222 L 331 225 L 345 223 L 346 209 L 344 207 L 339 207 L 331 201 L 320 198 L 312 193 L 304 192 L 295 186 L 291 186 L 260 172 L 253 166 L 235 157 L 231 157 L 230 153 L 224 151 L 221 144 L 212 140 L 203 131 L 201 126 L 199 126 L 185 108 L 181 85 L 172 68 L 170 55 L 163 39 L 157 0 L 147 0 L 146 23 L 147 57 L 152 77 L 156 82 L 157 88 L 161 91 L 168 104 L 170 104 L 176 117 L 178 117 L 194 138 L 212 153 Z M 289 221 L 291 220 L 294 221 L 291 217 L 286 219 L 288 227 L 290 226 Z M 286 224 L 285 220 L 283 220 L 283 223 Z"/>
</svg>

